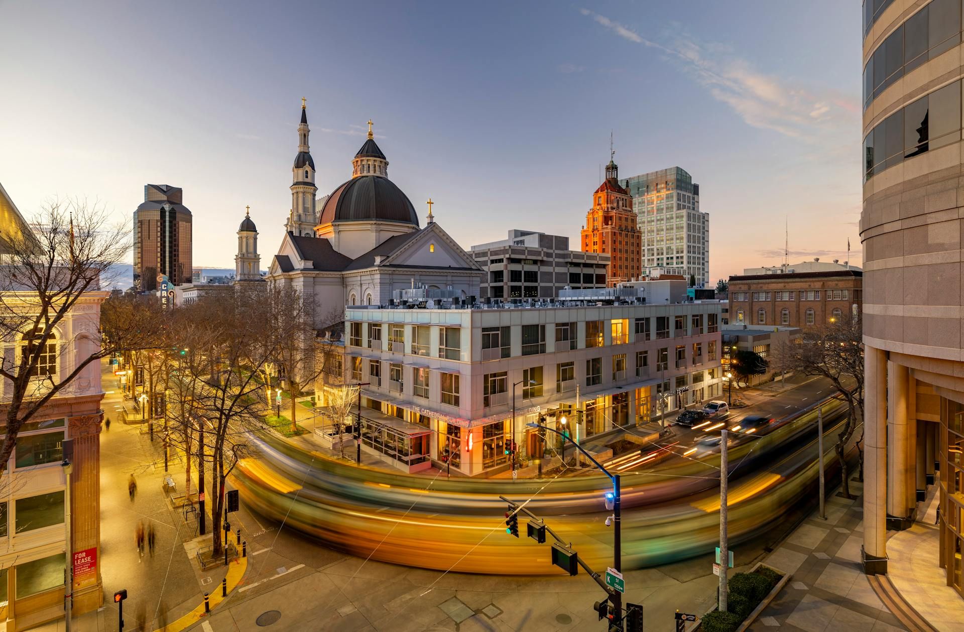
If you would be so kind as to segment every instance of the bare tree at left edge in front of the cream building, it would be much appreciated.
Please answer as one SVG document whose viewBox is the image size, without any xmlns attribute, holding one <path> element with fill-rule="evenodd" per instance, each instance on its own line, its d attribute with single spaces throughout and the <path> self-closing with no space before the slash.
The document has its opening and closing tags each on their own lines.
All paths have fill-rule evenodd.
<svg viewBox="0 0 964 632">
<path fill-rule="evenodd" d="M 99 327 L 91 318 L 65 327 L 77 303 L 98 291 L 130 250 L 125 224 L 112 224 L 100 206 L 54 201 L 30 226 L 0 240 L 0 338 L 8 347 L 0 362 L 6 407 L 0 474 L 24 423 L 92 362 L 149 345 L 158 326 L 149 305 L 118 298 L 103 303 Z"/>
</svg>

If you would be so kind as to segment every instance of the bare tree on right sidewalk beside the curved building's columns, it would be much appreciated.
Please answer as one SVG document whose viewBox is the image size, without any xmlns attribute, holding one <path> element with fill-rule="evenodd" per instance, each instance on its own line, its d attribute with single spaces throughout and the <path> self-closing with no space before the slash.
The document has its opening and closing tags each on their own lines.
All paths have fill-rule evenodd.
<svg viewBox="0 0 964 632">
<path fill-rule="evenodd" d="M 805 330 L 797 341 L 783 343 L 775 358 L 779 370 L 829 380 L 846 402 L 846 422 L 834 445 L 841 463 L 841 490 L 846 497 L 850 496 L 844 459 L 846 444 L 864 419 L 864 350 L 861 336 L 860 318 L 832 320 L 827 325 Z M 859 440 L 857 450 L 863 461 Z"/>
</svg>

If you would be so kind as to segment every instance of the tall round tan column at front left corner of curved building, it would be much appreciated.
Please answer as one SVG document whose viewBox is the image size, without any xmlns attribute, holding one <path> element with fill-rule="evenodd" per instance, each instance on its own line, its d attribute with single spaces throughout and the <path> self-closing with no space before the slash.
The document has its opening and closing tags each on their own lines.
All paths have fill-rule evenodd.
<svg viewBox="0 0 964 632">
<path fill-rule="evenodd" d="M 887 360 L 864 348 L 864 544 L 861 562 L 869 575 L 887 572 Z"/>
</svg>

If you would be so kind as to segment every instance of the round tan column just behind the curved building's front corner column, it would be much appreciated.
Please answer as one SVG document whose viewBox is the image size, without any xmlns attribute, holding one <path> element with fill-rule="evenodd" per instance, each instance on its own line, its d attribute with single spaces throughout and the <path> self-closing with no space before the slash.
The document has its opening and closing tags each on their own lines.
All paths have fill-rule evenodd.
<svg viewBox="0 0 964 632">
<path fill-rule="evenodd" d="M 887 528 L 911 525 L 907 507 L 910 429 L 907 425 L 907 367 L 887 362 Z"/>
</svg>

